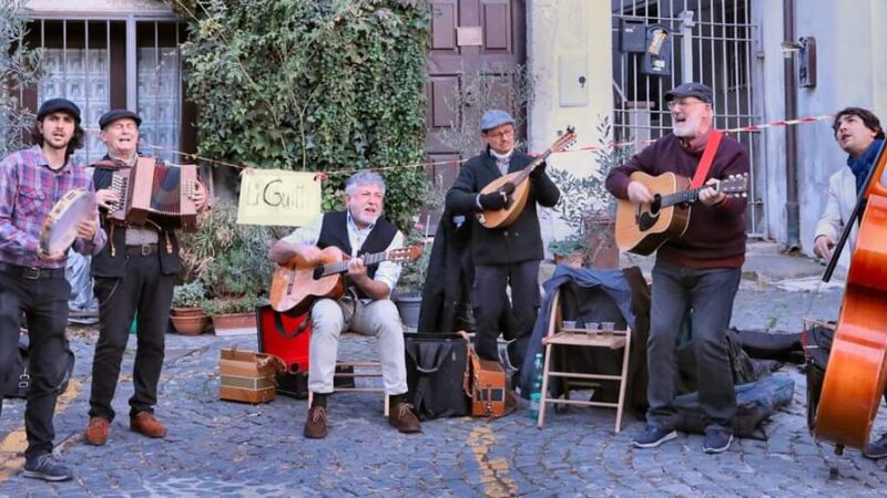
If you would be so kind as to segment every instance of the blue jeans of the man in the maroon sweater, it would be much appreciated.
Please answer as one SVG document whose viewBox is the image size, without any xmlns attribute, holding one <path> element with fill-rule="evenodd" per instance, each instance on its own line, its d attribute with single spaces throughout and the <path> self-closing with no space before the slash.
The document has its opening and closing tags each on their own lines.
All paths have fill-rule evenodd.
<svg viewBox="0 0 887 498">
<path fill-rule="evenodd" d="M 706 425 L 733 432 L 736 394 L 726 331 L 741 271 L 738 268 L 694 270 L 656 262 L 646 342 L 649 424 L 671 428 L 676 423 L 672 404 L 676 394 L 676 339 L 686 310 L 692 309 L 693 354 L 696 356 L 700 404 L 707 418 Z"/>
</svg>

